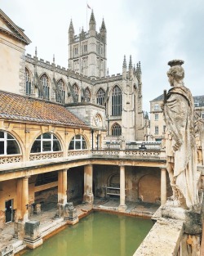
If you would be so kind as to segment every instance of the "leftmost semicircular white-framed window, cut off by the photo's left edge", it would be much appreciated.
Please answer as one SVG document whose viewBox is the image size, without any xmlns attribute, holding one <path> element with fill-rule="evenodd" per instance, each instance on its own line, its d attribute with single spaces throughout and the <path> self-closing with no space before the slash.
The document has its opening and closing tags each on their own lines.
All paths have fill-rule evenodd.
<svg viewBox="0 0 204 256">
<path fill-rule="evenodd" d="M 8 132 L 0 131 L 0 155 L 20 154 L 20 147 Z"/>
</svg>

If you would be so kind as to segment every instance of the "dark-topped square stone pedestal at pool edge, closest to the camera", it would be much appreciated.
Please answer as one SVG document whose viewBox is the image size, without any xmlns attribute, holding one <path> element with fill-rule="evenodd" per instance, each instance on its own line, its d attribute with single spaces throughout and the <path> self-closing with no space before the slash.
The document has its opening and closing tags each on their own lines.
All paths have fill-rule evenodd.
<svg viewBox="0 0 204 256">
<path fill-rule="evenodd" d="M 28 221 L 24 225 L 24 241 L 26 245 L 34 249 L 39 245 L 42 245 L 42 237 L 40 234 L 40 222 Z"/>
</svg>

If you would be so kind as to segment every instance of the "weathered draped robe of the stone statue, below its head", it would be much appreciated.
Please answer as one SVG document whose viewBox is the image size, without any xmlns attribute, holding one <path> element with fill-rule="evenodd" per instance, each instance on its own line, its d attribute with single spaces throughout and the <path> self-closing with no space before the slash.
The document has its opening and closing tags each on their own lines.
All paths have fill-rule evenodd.
<svg viewBox="0 0 204 256">
<path fill-rule="evenodd" d="M 197 151 L 193 130 L 194 102 L 184 86 L 171 88 L 164 105 L 166 157 L 174 162 L 175 187 L 184 195 L 188 208 L 198 203 Z M 173 150 L 174 145 L 178 150 Z"/>
</svg>

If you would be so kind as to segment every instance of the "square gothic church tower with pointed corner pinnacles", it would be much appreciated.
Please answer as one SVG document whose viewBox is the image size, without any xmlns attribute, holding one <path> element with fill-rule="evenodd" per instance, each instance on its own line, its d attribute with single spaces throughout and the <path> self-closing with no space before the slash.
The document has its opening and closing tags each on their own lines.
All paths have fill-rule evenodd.
<svg viewBox="0 0 204 256">
<path fill-rule="evenodd" d="M 89 30 L 75 35 L 73 22 L 69 25 L 69 70 L 84 74 L 91 79 L 100 79 L 106 74 L 106 28 L 104 20 L 100 33 L 95 29 L 95 16 L 91 11 Z"/>
</svg>

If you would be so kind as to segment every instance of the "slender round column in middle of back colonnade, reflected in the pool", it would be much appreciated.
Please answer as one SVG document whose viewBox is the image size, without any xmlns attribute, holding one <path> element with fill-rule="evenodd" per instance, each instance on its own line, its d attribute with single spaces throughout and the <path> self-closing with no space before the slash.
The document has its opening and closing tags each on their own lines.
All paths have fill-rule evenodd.
<svg viewBox="0 0 204 256">
<path fill-rule="evenodd" d="M 120 205 L 118 211 L 126 211 L 126 175 L 124 165 L 120 166 Z"/>
</svg>

